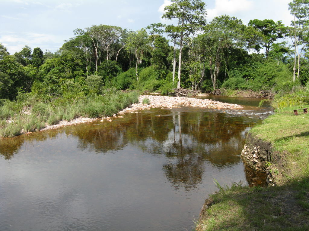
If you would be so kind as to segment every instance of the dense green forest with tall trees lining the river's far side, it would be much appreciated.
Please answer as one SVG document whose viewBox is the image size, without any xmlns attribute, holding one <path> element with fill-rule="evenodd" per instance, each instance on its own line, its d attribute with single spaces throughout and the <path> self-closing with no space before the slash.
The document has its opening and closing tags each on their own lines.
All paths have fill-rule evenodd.
<svg viewBox="0 0 309 231">
<path fill-rule="evenodd" d="M 207 22 L 203 1 L 171 2 L 162 17 L 174 24 L 153 23 L 137 31 L 92 25 L 74 30 L 74 37 L 54 53 L 25 45 L 10 55 L 0 41 L 0 119 L 25 107 L 40 111 L 34 107 L 38 102 L 50 104 L 54 112 L 57 105 L 99 101 L 118 95 L 116 90 L 168 94 L 180 87 L 203 92 L 224 88 L 272 90 L 282 96 L 309 87 L 308 0 L 286 6 L 294 16 L 291 26 L 271 19 L 245 25 L 228 15 Z"/>
</svg>

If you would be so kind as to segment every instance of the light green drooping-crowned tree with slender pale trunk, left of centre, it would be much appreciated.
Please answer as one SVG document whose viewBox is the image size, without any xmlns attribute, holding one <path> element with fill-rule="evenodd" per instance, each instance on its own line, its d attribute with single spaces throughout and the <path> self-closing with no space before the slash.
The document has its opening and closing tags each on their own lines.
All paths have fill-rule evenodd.
<svg viewBox="0 0 309 231">
<path fill-rule="evenodd" d="M 149 50 L 148 45 L 149 45 L 148 35 L 147 31 L 144 28 L 136 32 L 130 33 L 127 38 L 126 50 L 132 52 L 136 58 L 135 72 L 137 81 L 138 81 L 138 71 L 137 71 L 138 63 L 140 60 L 143 59 L 145 52 Z"/>
</svg>

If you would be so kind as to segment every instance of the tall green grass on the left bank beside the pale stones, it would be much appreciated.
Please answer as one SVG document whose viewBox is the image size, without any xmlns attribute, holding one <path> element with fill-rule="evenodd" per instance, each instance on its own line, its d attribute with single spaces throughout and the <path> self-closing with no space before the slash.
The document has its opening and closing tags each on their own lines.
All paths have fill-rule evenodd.
<svg viewBox="0 0 309 231">
<path fill-rule="evenodd" d="M 105 95 L 91 95 L 76 101 L 57 99 L 42 102 L 30 99 L 23 102 L 6 101 L 0 107 L 0 137 L 13 137 L 23 132 L 40 130 L 46 125 L 54 125 L 60 120 L 74 120 L 83 117 L 110 116 L 138 102 L 135 91 L 107 91 Z M 60 102 L 60 103 L 59 103 Z M 29 111 L 30 115 L 23 111 Z M 12 120 L 7 123 L 6 120 Z"/>
</svg>

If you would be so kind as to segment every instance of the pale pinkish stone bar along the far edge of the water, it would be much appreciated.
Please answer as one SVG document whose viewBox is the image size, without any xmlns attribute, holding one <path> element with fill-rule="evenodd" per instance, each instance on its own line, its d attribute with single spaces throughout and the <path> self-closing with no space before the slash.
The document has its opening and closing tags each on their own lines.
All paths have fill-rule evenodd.
<svg viewBox="0 0 309 231">
<path fill-rule="evenodd" d="M 143 99 L 149 99 L 149 104 L 143 104 Z M 123 109 L 122 111 L 112 115 L 112 117 L 104 117 L 100 121 L 108 121 L 112 122 L 112 118 L 123 118 L 122 115 L 125 113 L 138 113 L 138 111 L 150 109 L 150 108 L 175 108 L 180 106 L 190 106 L 190 107 L 201 107 L 201 108 L 212 108 L 212 109 L 240 109 L 242 108 L 238 104 L 231 104 L 231 103 L 222 103 L 217 102 L 211 99 L 196 99 L 196 98 L 189 98 L 189 97 L 170 97 L 170 96 L 162 96 L 162 95 L 141 95 L 139 97 L 139 103 L 131 104 L 129 107 Z M 49 130 L 53 128 L 59 128 L 67 125 L 73 124 L 81 124 L 81 123 L 88 123 L 97 120 L 91 118 L 82 118 L 79 117 L 75 120 L 71 121 L 60 121 L 59 124 L 46 126 L 42 128 L 40 131 Z"/>
</svg>

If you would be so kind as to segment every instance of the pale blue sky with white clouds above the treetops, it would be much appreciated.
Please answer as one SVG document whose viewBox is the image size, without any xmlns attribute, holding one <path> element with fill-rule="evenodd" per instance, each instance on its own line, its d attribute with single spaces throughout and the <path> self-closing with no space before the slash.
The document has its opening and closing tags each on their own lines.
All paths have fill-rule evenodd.
<svg viewBox="0 0 309 231">
<path fill-rule="evenodd" d="M 281 20 L 290 25 L 292 0 L 204 0 L 207 21 L 222 14 L 248 24 L 250 19 Z M 11 54 L 25 45 L 57 51 L 73 30 L 91 25 L 121 26 L 139 30 L 161 18 L 169 0 L 0 0 L 0 43 Z"/>
</svg>

